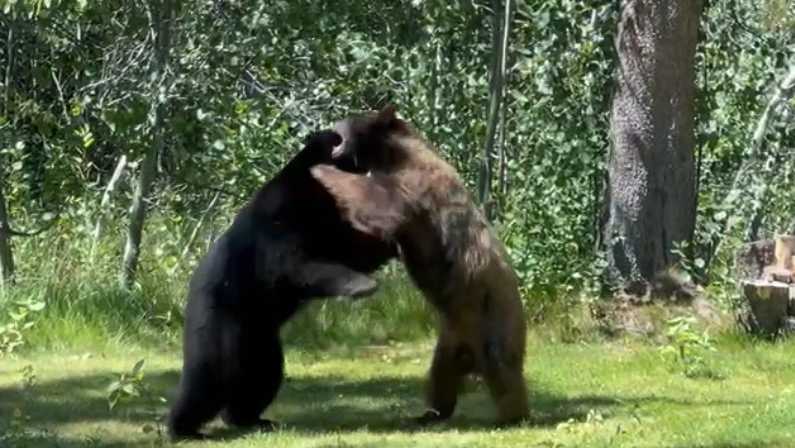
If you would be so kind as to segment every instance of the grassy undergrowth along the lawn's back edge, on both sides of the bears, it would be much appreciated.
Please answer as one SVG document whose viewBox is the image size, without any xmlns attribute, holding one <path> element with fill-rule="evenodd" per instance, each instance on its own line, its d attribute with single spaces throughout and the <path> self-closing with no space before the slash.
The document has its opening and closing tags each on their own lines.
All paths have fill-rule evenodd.
<svg viewBox="0 0 795 448">
<path fill-rule="evenodd" d="M 0 290 L 0 355 L 127 345 L 178 349 L 190 274 L 225 223 L 216 222 L 200 232 L 191 250 L 180 256 L 183 245 L 163 243 L 168 235 L 158 219 L 151 218 L 138 281 L 129 290 L 117 279 L 122 240 L 118 233 L 109 233 L 96 246 L 68 232 L 60 238 L 20 239 L 15 247 L 16 284 Z M 285 345 L 313 349 L 433 337 L 436 313 L 408 281 L 400 263 L 390 263 L 376 278 L 380 288 L 372 297 L 310 303 L 283 328 Z M 530 327 L 553 342 L 599 342 L 615 336 L 604 331 L 603 318 L 594 313 L 594 305 L 604 302 L 589 291 L 550 295 L 523 288 Z M 652 316 L 658 321 L 653 326 L 664 329 L 670 317 Z"/>
</svg>

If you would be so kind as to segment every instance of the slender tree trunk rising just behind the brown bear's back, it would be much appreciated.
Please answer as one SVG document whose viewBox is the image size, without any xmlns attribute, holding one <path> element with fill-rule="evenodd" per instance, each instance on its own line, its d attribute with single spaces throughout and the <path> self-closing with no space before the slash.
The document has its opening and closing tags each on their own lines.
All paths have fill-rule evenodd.
<svg viewBox="0 0 795 448">
<path fill-rule="evenodd" d="M 489 99 L 489 118 L 486 128 L 486 142 L 483 145 L 483 161 L 480 173 L 480 202 L 486 211 L 486 216 L 491 217 L 491 177 L 493 174 L 492 156 L 494 142 L 497 136 L 497 125 L 500 121 L 502 108 L 502 95 L 504 90 L 505 61 L 508 53 L 508 38 L 511 32 L 511 8 L 513 0 L 493 0 L 494 7 L 494 32 L 492 33 L 492 48 L 494 49 L 494 64 L 491 71 L 491 92 Z"/>
</svg>

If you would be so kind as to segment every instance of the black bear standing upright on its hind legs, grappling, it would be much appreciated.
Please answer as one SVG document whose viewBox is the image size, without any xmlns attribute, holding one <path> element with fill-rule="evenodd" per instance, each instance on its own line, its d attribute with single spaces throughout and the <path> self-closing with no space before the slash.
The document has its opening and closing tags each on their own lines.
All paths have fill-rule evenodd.
<svg viewBox="0 0 795 448">
<path fill-rule="evenodd" d="M 283 379 L 279 329 L 308 300 L 375 291 L 371 273 L 396 255 L 390 243 L 354 230 L 309 169 L 332 163 L 333 131 L 306 146 L 254 195 L 190 280 L 183 367 L 168 418 L 172 438 L 225 423 L 272 427 L 260 414 Z M 356 171 L 353 160 L 334 160 Z"/>
</svg>

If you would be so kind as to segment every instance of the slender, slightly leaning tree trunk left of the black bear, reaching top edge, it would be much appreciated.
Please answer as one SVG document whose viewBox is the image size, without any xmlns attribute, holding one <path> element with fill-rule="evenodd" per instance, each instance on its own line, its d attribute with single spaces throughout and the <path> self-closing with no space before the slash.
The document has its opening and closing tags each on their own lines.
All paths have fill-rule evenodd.
<svg viewBox="0 0 795 448">
<path fill-rule="evenodd" d="M 146 221 L 146 202 L 152 182 L 157 171 L 157 156 L 163 149 L 165 141 L 165 103 L 162 97 L 167 95 L 168 58 L 171 49 L 171 28 L 178 9 L 176 0 L 153 0 L 149 3 L 149 19 L 151 31 L 155 37 L 154 60 L 152 63 L 152 79 L 156 80 L 152 92 L 152 106 L 149 120 L 152 124 L 152 144 L 141 162 L 141 172 L 133 193 L 130 207 L 130 224 L 127 229 L 127 241 L 124 245 L 122 260 L 121 284 L 125 288 L 132 286 L 138 268 L 144 223 Z"/>
</svg>

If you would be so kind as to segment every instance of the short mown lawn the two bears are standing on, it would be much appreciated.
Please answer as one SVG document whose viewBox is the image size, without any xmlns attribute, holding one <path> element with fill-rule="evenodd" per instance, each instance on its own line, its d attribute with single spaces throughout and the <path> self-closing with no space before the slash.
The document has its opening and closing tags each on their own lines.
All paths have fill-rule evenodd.
<svg viewBox="0 0 795 448">
<path fill-rule="evenodd" d="M 795 342 L 722 336 L 706 359 L 718 379 L 690 379 L 657 347 L 623 341 L 562 344 L 531 336 L 526 374 L 532 420 L 494 429 L 485 388 L 467 386 L 447 424 L 412 431 L 422 410 L 431 341 L 287 354 L 288 381 L 267 416 L 275 433 L 243 433 L 216 421 L 225 447 L 791 447 L 795 446 Z M 151 393 L 110 411 L 107 386 L 139 359 Z M 22 373 L 35 381 L 24 388 Z M 34 352 L 0 360 L 0 446 L 158 446 L 143 426 L 166 411 L 176 351 Z M 16 417 L 15 417 L 16 416 Z"/>
</svg>

